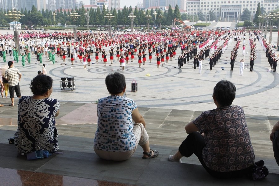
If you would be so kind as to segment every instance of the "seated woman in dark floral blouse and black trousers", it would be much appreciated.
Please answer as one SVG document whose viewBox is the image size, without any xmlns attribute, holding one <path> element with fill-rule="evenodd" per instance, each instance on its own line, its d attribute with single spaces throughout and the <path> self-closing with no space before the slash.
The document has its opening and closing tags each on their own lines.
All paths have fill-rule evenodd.
<svg viewBox="0 0 279 186">
<path fill-rule="evenodd" d="M 189 135 L 169 161 L 181 162 L 183 156 L 195 154 L 206 171 L 218 178 L 240 177 L 250 171 L 255 155 L 243 108 L 231 105 L 235 91 L 232 82 L 216 84 L 212 97 L 217 108 L 185 126 Z"/>
</svg>

